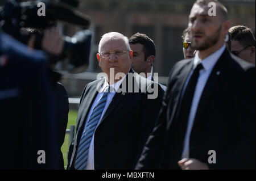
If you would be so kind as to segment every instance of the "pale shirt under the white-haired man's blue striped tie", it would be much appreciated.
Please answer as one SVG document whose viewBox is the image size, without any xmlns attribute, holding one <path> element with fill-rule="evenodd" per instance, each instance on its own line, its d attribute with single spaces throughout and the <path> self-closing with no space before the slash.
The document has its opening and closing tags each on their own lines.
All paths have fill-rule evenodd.
<svg viewBox="0 0 256 181">
<path fill-rule="evenodd" d="M 125 75 L 125 77 L 126 77 L 126 75 Z M 100 100 L 102 98 L 105 89 L 107 89 L 107 87 L 110 86 L 110 92 L 109 92 L 108 98 L 106 100 L 105 108 L 104 108 L 104 110 L 101 114 L 100 121 L 98 121 L 98 124 L 97 124 L 97 127 L 98 127 L 98 125 L 102 121 L 101 119 L 104 116 L 104 113 L 106 112 L 106 110 L 109 107 L 109 104 L 112 102 L 112 99 L 115 95 L 115 92 L 117 92 L 117 90 L 119 89 L 119 87 L 120 87 L 121 83 L 123 82 L 123 79 L 125 79 L 125 77 L 123 77 L 121 80 L 113 83 L 113 85 L 109 85 L 108 81 L 106 81 L 106 78 L 105 78 L 105 82 L 102 85 L 100 92 L 98 92 L 98 95 L 97 95 L 96 99 L 94 100 L 92 107 L 90 108 L 90 112 L 89 112 L 89 114 L 87 116 L 87 119 L 86 119 L 86 124 L 88 123 L 90 115 L 92 115 L 93 108 L 96 106 L 96 103 L 98 102 L 98 100 Z M 86 128 L 86 124 L 85 124 L 84 129 Z M 97 127 L 96 127 L 96 129 L 97 129 Z M 96 131 L 96 129 L 95 129 L 95 131 Z M 90 142 L 90 147 L 89 147 L 89 151 L 88 151 L 86 170 L 94 170 L 94 133 L 93 133 L 92 141 Z"/>
</svg>

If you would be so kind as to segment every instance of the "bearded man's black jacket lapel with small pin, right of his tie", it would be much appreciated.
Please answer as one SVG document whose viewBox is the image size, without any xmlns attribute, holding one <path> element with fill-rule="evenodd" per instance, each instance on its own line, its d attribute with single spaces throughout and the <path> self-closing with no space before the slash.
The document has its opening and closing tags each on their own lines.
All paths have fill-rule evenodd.
<svg viewBox="0 0 256 181">
<path fill-rule="evenodd" d="M 218 80 L 225 73 L 225 68 L 228 65 L 229 60 L 230 60 L 230 54 L 228 50 L 225 49 L 224 53 L 222 53 L 218 62 L 214 66 L 212 73 L 210 73 L 208 81 L 204 87 L 204 90 L 202 92 L 202 95 L 199 101 L 199 105 L 197 106 L 194 125 L 196 124 L 197 120 L 199 120 L 199 117 L 201 116 L 201 114 L 204 113 L 204 109 L 208 107 L 207 104 L 209 103 L 209 99 L 211 98 L 211 95 L 214 92 L 214 87 L 216 86 L 216 83 L 218 82 Z"/>
</svg>

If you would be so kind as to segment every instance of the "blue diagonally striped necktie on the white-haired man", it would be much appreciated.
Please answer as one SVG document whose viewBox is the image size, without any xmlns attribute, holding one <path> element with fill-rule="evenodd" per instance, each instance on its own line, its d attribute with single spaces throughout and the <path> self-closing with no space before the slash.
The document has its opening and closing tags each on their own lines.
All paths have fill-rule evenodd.
<svg viewBox="0 0 256 181">
<path fill-rule="evenodd" d="M 98 121 L 100 121 L 102 112 L 105 108 L 108 93 L 109 87 L 107 88 L 107 91 L 104 92 L 101 99 L 98 100 L 96 106 L 93 108 L 92 115 L 90 115 L 90 119 L 88 120 L 84 132 L 82 133 L 75 161 L 75 169 L 77 170 L 86 169 L 90 141 L 92 141 L 94 131 L 98 125 Z"/>
</svg>

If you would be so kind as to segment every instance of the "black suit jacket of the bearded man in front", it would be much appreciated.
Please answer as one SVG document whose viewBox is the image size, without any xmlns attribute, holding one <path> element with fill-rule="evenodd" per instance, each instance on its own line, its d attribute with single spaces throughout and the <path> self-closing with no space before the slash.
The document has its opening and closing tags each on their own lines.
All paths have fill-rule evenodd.
<svg viewBox="0 0 256 181">
<path fill-rule="evenodd" d="M 175 119 L 180 93 L 193 59 L 177 62 L 170 72 L 163 106 L 137 169 L 179 169 L 180 144 Z M 209 150 L 216 163 L 209 164 Z M 255 66 L 225 50 L 200 98 L 189 143 L 190 158 L 210 169 L 255 169 Z"/>
</svg>

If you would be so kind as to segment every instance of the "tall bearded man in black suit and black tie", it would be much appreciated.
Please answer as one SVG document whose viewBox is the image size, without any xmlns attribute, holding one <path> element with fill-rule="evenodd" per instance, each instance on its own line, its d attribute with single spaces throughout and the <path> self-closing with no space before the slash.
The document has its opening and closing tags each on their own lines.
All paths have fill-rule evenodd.
<svg viewBox="0 0 256 181">
<path fill-rule="evenodd" d="M 220 2 L 193 5 L 189 27 L 199 51 L 172 68 L 137 169 L 255 169 L 255 66 L 226 49 L 229 26 Z"/>
</svg>

